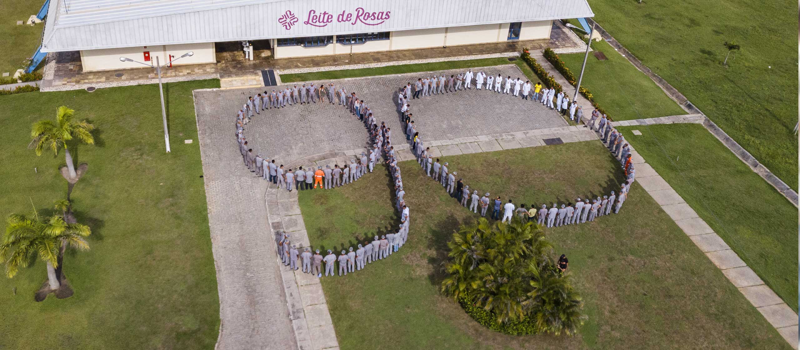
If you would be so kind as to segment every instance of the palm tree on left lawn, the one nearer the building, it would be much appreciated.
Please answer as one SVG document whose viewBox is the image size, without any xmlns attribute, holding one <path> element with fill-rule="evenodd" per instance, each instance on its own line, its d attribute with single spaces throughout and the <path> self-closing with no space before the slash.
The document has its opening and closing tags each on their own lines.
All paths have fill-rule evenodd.
<svg viewBox="0 0 800 350">
<path fill-rule="evenodd" d="M 69 170 L 70 178 L 67 181 L 78 181 L 78 173 L 75 172 L 75 165 L 72 161 L 69 145 L 70 141 L 75 140 L 88 145 L 94 145 L 92 130 L 94 125 L 86 121 L 73 121 L 74 109 L 62 105 L 56 110 L 55 121 L 41 120 L 34 123 L 30 131 L 33 138 L 31 144 L 36 146 L 36 155 L 41 156 L 45 148 L 52 149 L 58 155 L 59 149 L 64 149 L 66 157 L 66 168 Z"/>
</svg>

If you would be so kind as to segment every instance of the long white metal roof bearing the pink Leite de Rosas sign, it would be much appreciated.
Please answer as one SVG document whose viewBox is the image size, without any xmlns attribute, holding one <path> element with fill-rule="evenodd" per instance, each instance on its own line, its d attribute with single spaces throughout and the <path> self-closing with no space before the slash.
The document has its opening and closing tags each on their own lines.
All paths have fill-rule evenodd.
<svg viewBox="0 0 800 350">
<path fill-rule="evenodd" d="M 312 21 L 314 14 L 322 20 Z M 586 0 L 54 0 L 42 51 L 581 17 L 594 17 Z"/>
</svg>

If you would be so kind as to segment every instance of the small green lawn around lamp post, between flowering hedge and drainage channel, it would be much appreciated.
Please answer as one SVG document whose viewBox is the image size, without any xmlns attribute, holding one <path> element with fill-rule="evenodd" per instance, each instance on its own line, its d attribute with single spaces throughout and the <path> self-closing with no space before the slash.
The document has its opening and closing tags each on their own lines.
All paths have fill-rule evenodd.
<svg viewBox="0 0 800 350">
<path fill-rule="evenodd" d="M 602 51 L 608 59 L 599 61 L 594 54 L 589 54 L 581 85 L 592 92 L 594 101 L 614 120 L 686 114 L 650 77 L 637 70 L 607 42 L 592 42 L 592 49 Z M 581 74 L 584 54 L 558 56 L 576 78 Z"/>
</svg>

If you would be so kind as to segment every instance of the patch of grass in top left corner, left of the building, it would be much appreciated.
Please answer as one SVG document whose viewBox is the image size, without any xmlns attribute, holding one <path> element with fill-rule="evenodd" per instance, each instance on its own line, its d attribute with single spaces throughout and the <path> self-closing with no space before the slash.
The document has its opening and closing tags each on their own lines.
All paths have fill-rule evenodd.
<svg viewBox="0 0 800 350">
<path fill-rule="evenodd" d="M 44 23 L 35 26 L 17 25 L 17 21 L 27 21 L 31 14 L 37 14 L 44 1 L 4 0 L 0 2 L 0 37 L 5 38 L 0 44 L 0 73 L 10 73 L 25 68 L 22 61 L 30 58 L 34 50 L 42 43 Z"/>
</svg>

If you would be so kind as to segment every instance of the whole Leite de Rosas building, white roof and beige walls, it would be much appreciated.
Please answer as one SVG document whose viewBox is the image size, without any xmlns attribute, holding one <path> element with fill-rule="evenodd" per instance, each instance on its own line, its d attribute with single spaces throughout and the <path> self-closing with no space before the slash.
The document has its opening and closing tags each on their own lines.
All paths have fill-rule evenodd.
<svg viewBox="0 0 800 350">
<path fill-rule="evenodd" d="M 80 51 L 83 70 L 216 62 L 217 42 L 266 40 L 274 58 L 550 37 L 586 0 L 54 0 L 42 52 Z"/>
</svg>

